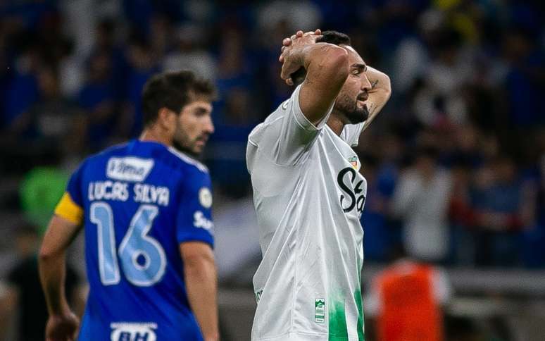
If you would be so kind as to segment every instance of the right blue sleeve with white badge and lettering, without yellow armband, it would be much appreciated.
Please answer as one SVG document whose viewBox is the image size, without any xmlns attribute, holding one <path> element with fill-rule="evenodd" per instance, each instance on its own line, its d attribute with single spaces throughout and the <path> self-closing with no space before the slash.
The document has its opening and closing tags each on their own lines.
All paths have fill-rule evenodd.
<svg viewBox="0 0 545 341">
<path fill-rule="evenodd" d="M 177 242 L 206 242 L 214 246 L 210 175 L 200 171 L 185 178 L 176 219 Z"/>
</svg>

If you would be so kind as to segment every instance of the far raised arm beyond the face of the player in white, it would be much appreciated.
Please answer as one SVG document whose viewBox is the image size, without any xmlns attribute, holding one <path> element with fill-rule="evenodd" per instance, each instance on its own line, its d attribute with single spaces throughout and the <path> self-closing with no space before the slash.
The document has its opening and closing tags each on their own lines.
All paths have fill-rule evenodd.
<svg viewBox="0 0 545 341">
<path fill-rule="evenodd" d="M 369 98 L 367 100 L 369 118 L 365 120 L 363 130 L 365 130 L 365 128 L 371 124 L 372 120 L 377 117 L 391 95 L 390 78 L 385 73 L 367 66 L 365 75 L 367 75 L 368 80 L 371 83 L 371 89 L 368 92 Z"/>
</svg>

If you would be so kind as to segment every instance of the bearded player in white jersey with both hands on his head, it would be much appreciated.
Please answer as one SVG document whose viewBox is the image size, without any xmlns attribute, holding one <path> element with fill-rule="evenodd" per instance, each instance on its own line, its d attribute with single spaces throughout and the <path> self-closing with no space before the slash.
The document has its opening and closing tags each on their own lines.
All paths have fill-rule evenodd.
<svg viewBox="0 0 545 341">
<path fill-rule="evenodd" d="M 364 340 L 361 302 L 367 182 L 351 147 L 390 96 L 348 36 L 284 39 L 282 79 L 302 83 L 249 135 L 263 260 L 251 339 Z"/>
</svg>

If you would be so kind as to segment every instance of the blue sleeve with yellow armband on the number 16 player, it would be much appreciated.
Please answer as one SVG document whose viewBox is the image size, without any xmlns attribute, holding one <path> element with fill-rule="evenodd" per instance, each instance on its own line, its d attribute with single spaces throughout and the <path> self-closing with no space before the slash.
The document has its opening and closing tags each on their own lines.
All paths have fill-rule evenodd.
<svg viewBox="0 0 545 341">
<path fill-rule="evenodd" d="M 85 163 L 72 174 L 66 191 L 55 208 L 55 214 L 75 224 L 83 221 L 82 173 Z"/>
</svg>

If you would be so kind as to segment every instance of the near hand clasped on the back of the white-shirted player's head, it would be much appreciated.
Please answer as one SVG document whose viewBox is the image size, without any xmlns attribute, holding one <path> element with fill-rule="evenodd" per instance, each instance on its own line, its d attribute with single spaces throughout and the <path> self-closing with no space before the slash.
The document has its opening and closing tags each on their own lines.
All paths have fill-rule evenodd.
<svg viewBox="0 0 545 341">
<path fill-rule="evenodd" d="M 316 43 L 316 39 L 322 36 L 320 29 L 304 33 L 299 30 L 292 37 L 284 38 L 282 41 L 282 49 L 278 61 L 282 63 L 282 72 L 280 77 L 287 85 L 294 85 L 292 73 L 295 73 L 299 68 L 304 67 L 303 49 L 307 46 Z"/>
</svg>

